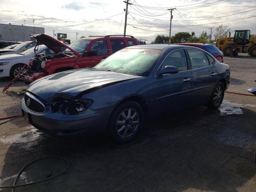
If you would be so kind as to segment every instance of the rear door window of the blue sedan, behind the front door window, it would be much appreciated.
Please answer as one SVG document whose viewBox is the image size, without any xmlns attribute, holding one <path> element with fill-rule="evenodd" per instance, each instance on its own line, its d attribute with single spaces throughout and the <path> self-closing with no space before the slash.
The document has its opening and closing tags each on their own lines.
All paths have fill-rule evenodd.
<svg viewBox="0 0 256 192">
<path fill-rule="evenodd" d="M 191 60 L 192 69 L 198 69 L 209 65 L 204 52 L 193 49 L 188 49 L 187 51 Z"/>
</svg>

